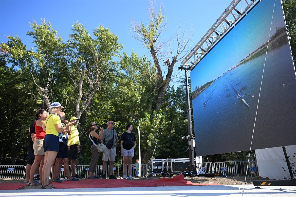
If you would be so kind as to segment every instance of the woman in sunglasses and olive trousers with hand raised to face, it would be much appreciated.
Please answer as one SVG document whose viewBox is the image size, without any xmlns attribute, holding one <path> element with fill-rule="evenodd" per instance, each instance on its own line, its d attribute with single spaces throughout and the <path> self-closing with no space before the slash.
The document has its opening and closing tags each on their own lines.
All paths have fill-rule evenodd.
<svg viewBox="0 0 296 197">
<path fill-rule="evenodd" d="M 102 134 L 104 131 L 104 128 L 101 127 L 101 131 L 99 131 L 99 134 L 96 132 L 98 129 L 98 124 L 95 122 L 92 122 L 89 124 L 89 131 L 90 131 L 90 138 L 96 145 L 98 145 L 101 142 Z M 98 179 L 95 175 L 96 172 L 96 164 L 98 163 L 100 153 L 98 152 L 98 149 L 96 149 L 96 146 L 91 141 L 91 163 L 89 164 L 89 175 L 87 176 L 87 179 Z"/>
</svg>

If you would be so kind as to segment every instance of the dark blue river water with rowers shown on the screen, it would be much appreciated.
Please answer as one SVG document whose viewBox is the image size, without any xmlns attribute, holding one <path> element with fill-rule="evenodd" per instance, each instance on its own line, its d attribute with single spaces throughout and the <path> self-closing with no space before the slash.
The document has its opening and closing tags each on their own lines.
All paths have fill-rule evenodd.
<svg viewBox="0 0 296 197">
<path fill-rule="evenodd" d="M 259 105 L 265 53 L 229 71 L 193 100 L 197 155 L 249 150 L 257 105 L 251 149 L 296 144 L 296 82 L 290 56 L 287 44 L 268 51 Z M 250 107 L 237 98 L 240 90 Z"/>
</svg>

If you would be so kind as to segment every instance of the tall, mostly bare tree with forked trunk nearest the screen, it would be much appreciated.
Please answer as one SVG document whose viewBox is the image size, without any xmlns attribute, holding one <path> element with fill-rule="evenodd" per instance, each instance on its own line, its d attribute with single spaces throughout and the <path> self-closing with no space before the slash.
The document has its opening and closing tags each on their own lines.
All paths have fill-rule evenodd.
<svg viewBox="0 0 296 197">
<path fill-rule="evenodd" d="M 152 110 L 160 110 L 165 92 L 173 77 L 173 68 L 175 64 L 183 60 L 189 51 L 189 42 L 192 39 L 192 28 L 187 33 L 187 28 L 181 30 L 181 22 L 176 33 L 168 40 L 160 40 L 162 32 L 165 30 L 167 22 L 164 22 L 163 6 L 159 10 L 155 9 L 155 1 L 149 1 L 149 21 L 147 25 L 141 22 L 135 22 L 131 19 L 131 36 L 143 43 L 145 48 L 150 49 L 154 66 L 157 71 L 157 78 L 152 81 L 155 84 L 156 104 Z M 167 69 L 164 78 L 163 69 Z"/>
</svg>

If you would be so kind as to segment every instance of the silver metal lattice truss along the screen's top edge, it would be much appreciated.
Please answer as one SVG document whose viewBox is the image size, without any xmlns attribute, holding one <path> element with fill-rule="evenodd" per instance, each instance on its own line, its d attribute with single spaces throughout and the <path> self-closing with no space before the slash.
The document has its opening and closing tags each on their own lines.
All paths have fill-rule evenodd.
<svg viewBox="0 0 296 197">
<path fill-rule="evenodd" d="M 261 0 L 233 0 L 217 19 L 214 25 L 207 31 L 203 38 L 194 46 L 189 54 L 181 62 L 181 67 L 186 66 L 190 70 L 234 27 L 247 11 Z"/>
</svg>

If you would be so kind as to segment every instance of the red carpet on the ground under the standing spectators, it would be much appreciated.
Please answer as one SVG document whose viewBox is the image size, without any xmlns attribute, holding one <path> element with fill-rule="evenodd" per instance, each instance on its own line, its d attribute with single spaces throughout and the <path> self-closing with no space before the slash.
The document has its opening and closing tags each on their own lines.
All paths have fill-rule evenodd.
<svg viewBox="0 0 296 197">
<path fill-rule="evenodd" d="M 219 185 L 198 184 L 186 181 L 183 175 L 177 175 L 173 178 L 158 178 L 149 180 L 110 180 L 110 179 L 83 179 L 79 181 L 64 181 L 62 183 L 53 183 L 56 189 L 70 188 L 123 188 L 123 187 L 164 187 L 164 186 L 190 186 L 190 185 Z M 0 190 L 15 190 L 22 188 L 23 183 L 0 183 Z M 37 188 L 37 187 L 36 187 Z M 38 187 L 39 188 L 39 187 Z"/>
</svg>

